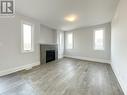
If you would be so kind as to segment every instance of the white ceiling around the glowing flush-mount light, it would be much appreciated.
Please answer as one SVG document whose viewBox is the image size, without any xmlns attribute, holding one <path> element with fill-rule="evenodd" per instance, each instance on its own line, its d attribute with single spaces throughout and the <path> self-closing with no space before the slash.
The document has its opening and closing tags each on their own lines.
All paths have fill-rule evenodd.
<svg viewBox="0 0 127 95">
<path fill-rule="evenodd" d="M 110 22 L 119 0 L 15 0 L 16 11 L 55 29 L 71 30 Z M 64 17 L 76 14 L 75 22 Z"/>
</svg>

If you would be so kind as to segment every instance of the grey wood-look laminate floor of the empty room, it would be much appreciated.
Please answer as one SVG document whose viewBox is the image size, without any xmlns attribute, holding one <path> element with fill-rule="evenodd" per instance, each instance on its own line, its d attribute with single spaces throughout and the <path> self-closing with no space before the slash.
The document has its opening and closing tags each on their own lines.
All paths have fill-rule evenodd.
<svg viewBox="0 0 127 95">
<path fill-rule="evenodd" d="M 124 95 L 110 65 L 64 58 L 0 77 L 0 95 Z"/>
</svg>

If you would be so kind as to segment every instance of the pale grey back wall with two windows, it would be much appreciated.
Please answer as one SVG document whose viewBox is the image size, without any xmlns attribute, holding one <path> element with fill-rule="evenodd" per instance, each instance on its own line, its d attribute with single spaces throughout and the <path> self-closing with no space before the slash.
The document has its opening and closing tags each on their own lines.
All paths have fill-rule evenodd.
<svg viewBox="0 0 127 95">
<path fill-rule="evenodd" d="M 95 51 L 93 33 L 95 29 L 105 28 L 105 50 Z M 111 46 L 111 25 L 110 23 L 97 25 L 87 28 L 80 28 L 73 31 L 74 35 L 74 48 L 72 50 L 65 49 L 65 56 L 98 61 L 109 62 L 110 61 L 110 46 Z"/>
</svg>

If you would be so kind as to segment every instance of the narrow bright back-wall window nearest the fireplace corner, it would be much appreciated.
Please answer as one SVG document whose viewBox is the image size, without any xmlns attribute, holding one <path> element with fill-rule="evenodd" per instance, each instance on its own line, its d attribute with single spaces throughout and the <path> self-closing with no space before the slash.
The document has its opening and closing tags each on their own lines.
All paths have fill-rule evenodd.
<svg viewBox="0 0 127 95">
<path fill-rule="evenodd" d="M 73 33 L 67 33 L 66 34 L 66 49 L 72 49 L 73 48 Z"/>
</svg>

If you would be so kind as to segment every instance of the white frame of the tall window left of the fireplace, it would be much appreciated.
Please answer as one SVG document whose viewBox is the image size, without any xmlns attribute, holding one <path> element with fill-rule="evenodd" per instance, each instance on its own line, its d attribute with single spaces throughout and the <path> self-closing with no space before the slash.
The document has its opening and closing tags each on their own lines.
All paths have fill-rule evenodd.
<svg viewBox="0 0 127 95">
<path fill-rule="evenodd" d="M 26 24 L 26 25 L 30 25 L 32 26 L 32 34 L 31 34 L 31 50 L 24 50 L 24 42 L 23 42 L 23 24 Z M 21 21 L 21 52 L 22 53 L 30 53 L 30 52 L 34 52 L 34 24 L 33 23 L 30 23 L 28 21 L 24 21 L 22 20 Z"/>
</svg>

